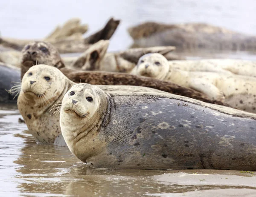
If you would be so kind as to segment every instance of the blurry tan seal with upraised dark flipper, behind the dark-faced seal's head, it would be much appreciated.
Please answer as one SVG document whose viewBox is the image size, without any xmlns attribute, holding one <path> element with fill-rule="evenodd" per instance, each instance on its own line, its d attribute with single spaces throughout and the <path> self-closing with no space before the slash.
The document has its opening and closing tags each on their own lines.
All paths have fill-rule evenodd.
<svg viewBox="0 0 256 197">
<path fill-rule="evenodd" d="M 46 41 L 52 43 L 60 53 L 84 52 L 93 43 L 99 40 L 109 40 L 116 31 L 120 20 L 111 18 L 108 23 L 95 34 L 84 38 L 82 35 L 87 31 L 87 25 L 81 25 L 79 19 L 67 21 L 63 27 L 56 29 L 44 39 L 19 40 L 13 38 L 0 38 L 0 46 L 21 51 L 23 47 L 33 41 Z"/>
</svg>

